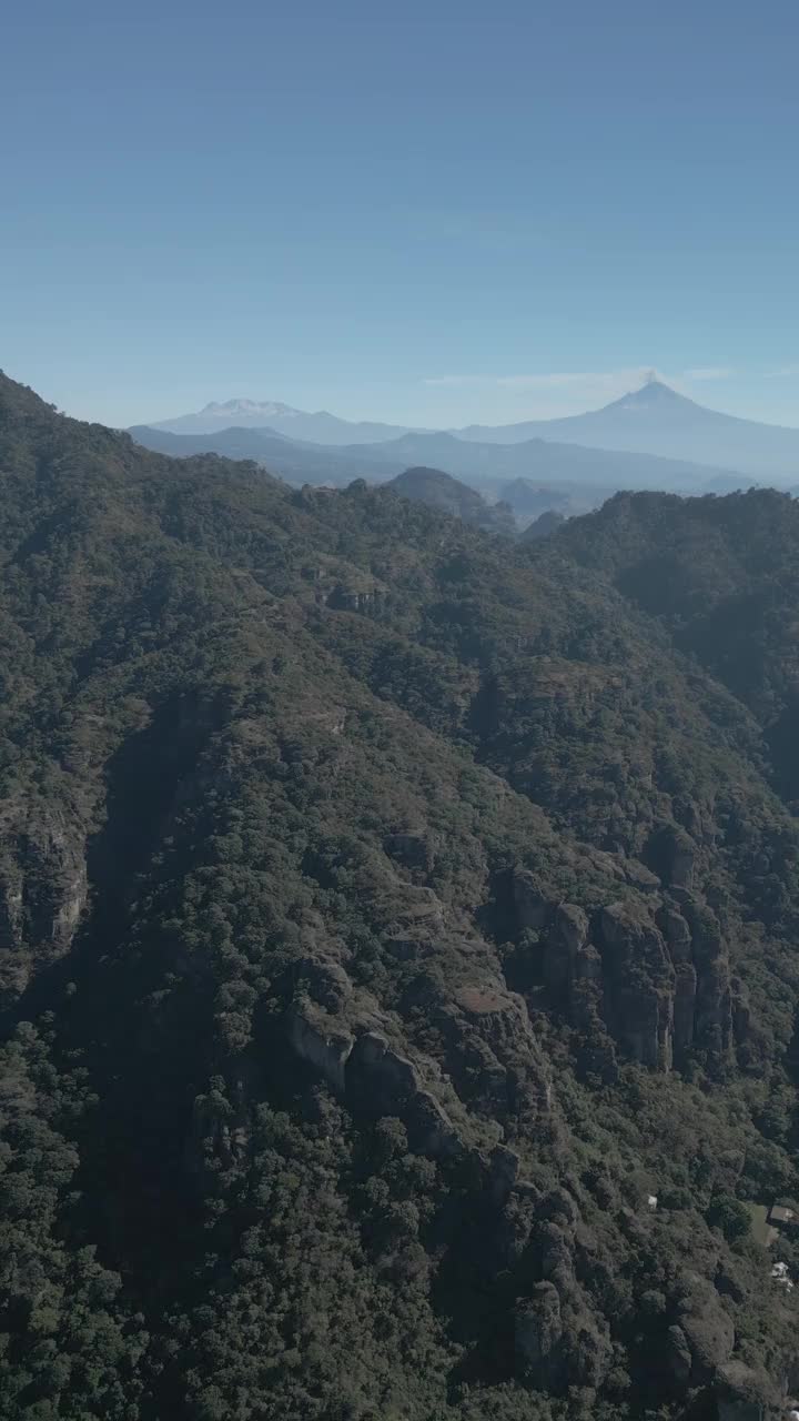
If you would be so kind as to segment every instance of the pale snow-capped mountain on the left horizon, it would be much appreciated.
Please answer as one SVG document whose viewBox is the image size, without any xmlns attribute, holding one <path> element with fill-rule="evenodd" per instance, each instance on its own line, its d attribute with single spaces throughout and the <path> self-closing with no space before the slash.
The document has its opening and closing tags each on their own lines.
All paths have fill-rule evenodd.
<svg viewBox="0 0 799 1421">
<path fill-rule="evenodd" d="M 212 435 L 222 429 L 266 429 L 290 439 L 310 439 L 313 443 L 353 445 L 395 439 L 408 432 L 408 425 L 384 425 L 370 421 L 351 422 L 330 415 L 327 409 L 307 414 L 281 405 L 279 401 L 226 399 L 205 405 L 193 415 L 159 419 L 148 429 L 165 429 L 175 435 Z"/>
</svg>

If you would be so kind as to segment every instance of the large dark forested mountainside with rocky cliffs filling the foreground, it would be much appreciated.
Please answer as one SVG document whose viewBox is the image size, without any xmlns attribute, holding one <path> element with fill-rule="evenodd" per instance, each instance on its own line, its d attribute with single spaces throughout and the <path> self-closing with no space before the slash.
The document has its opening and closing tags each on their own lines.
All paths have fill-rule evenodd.
<svg viewBox="0 0 799 1421">
<path fill-rule="evenodd" d="M 691 612 L 680 500 L 522 546 L 1 377 L 0 477 L 0 1418 L 779 1415 L 788 514 Z"/>
</svg>

